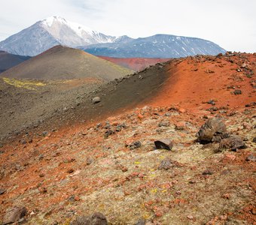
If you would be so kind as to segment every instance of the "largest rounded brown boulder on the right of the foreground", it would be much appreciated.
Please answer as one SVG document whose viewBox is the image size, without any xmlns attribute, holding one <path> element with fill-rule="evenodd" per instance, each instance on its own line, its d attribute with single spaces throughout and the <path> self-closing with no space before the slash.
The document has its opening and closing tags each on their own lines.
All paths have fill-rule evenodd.
<svg viewBox="0 0 256 225">
<path fill-rule="evenodd" d="M 221 118 L 209 118 L 197 133 L 198 141 L 202 144 L 212 142 L 214 136 L 224 136 L 227 133 L 226 125 Z"/>
</svg>

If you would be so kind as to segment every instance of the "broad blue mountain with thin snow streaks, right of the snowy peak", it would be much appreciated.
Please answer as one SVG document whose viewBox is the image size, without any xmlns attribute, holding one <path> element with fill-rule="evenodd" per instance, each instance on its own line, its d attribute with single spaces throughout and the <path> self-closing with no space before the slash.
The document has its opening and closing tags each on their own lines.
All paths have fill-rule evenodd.
<svg viewBox="0 0 256 225">
<path fill-rule="evenodd" d="M 97 43 L 80 48 L 93 55 L 117 58 L 179 58 L 188 55 L 218 55 L 226 52 L 209 40 L 169 34 L 156 34 L 137 39 L 126 38 L 116 40 L 114 43 Z"/>
</svg>

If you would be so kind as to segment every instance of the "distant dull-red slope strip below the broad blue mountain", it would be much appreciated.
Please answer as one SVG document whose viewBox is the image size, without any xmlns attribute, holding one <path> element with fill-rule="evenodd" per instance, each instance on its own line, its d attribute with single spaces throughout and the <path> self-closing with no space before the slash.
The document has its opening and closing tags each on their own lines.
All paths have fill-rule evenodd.
<svg viewBox="0 0 256 225">
<path fill-rule="evenodd" d="M 103 58 L 109 62 L 113 62 L 124 68 L 129 68 L 133 71 L 142 71 L 150 65 L 170 60 L 170 58 L 112 58 L 108 56 L 99 56 L 99 58 Z"/>
</svg>

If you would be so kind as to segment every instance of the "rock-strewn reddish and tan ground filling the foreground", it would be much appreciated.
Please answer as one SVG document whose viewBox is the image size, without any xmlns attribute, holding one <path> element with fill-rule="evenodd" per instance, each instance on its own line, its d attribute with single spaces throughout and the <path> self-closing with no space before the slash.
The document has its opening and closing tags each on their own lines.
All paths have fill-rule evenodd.
<svg viewBox="0 0 256 225">
<path fill-rule="evenodd" d="M 2 224 L 255 224 L 254 107 L 142 107 L 1 146 Z"/>
</svg>

